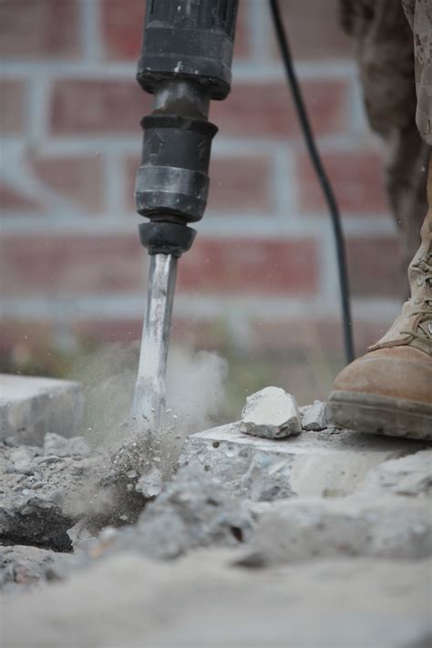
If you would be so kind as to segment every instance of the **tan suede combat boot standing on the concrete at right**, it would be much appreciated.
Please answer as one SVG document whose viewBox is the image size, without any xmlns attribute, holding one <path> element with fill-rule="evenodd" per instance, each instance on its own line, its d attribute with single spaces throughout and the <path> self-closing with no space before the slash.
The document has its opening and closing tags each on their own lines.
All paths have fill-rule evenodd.
<svg viewBox="0 0 432 648">
<path fill-rule="evenodd" d="M 335 379 L 328 416 L 337 427 L 432 439 L 432 162 L 427 201 L 408 271 L 411 299 L 386 335 Z"/>
</svg>

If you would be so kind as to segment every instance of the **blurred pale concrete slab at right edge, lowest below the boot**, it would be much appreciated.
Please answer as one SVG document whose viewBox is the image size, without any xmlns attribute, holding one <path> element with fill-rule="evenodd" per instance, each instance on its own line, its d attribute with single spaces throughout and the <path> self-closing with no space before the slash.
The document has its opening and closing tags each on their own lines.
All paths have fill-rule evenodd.
<svg viewBox="0 0 432 648">
<path fill-rule="evenodd" d="M 273 502 L 239 564 L 263 567 L 336 556 L 415 560 L 432 554 L 427 499 L 365 495 Z"/>
</svg>

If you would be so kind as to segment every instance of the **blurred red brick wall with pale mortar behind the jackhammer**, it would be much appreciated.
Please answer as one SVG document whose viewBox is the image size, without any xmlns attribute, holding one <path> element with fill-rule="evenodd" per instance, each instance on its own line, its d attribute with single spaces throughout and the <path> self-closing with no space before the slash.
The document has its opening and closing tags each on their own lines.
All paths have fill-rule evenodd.
<svg viewBox="0 0 432 648">
<path fill-rule="evenodd" d="M 335 0 L 282 0 L 344 212 L 357 345 L 398 309 L 397 245 Z M 337 349 L 332 231 L 285 87 L 267 3 L 241 0 L 211 198 L 180 262 L 174 334 L 201 347 Z M 139 338 L 147 261 L 133 182 L 144 0 L 2 0 L 3 346 Z"/>
</svg>

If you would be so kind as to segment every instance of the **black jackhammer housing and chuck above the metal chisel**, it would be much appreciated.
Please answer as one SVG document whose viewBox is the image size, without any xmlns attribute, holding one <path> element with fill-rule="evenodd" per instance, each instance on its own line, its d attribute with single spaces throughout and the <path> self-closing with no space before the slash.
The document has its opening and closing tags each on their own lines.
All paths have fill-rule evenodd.
<svg viewBox="0 0 432 648">
<path fill-rule="evenodd" d="M 154 95 L 142 119 L 136 183 L 139 226 L 150 254 L 190 249 L 209 191 L 211 99 L 226 98 L 238 0 L 148 0 L 139 58 L 140 86 Z"/>
</svg>

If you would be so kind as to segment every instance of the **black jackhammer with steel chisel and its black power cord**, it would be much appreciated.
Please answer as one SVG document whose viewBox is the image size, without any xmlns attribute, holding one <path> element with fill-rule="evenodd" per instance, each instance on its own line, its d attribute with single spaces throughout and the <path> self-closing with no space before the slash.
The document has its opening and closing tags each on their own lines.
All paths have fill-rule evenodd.
<svg viewBox="0 0 432 648">
<path fill-rule="evenodd" d="M 353 359 L 345 249 L 337 204 L 326 177 L 293 71 L 277 0 L 270 0 L 276 36 L 317 178 L 334 223 L 344 314 L 345 351 Z M 138 81 L 153 95 L 144 130 L 136 181 L 139 226 L 150 255 L 147 310 L 132 403 L 132 426 L 159 429 L 165 410 L 165 374 L 177 263 L 190 250 L 207 203 L 211 140 L 218 129 L 208 120 L 211 99 L 231 89 L 232 49 L 238 0 L 147 0 Z"/>
</svg>

